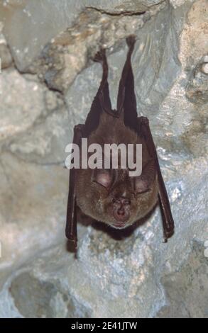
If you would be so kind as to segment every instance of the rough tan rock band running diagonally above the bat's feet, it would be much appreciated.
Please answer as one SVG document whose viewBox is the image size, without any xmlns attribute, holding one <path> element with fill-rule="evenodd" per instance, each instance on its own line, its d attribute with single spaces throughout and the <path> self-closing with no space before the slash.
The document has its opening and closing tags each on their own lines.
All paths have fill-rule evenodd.
<svg viewBox="0 0 208 333">
<path fill-rule="evenodd" d="M 50 89 L 65 92 L 99 47 L 107 47 L 112 52 L 121 40 L 136 33 L 164 6 L 153 7 L 141 13 L 139 18 L 109 16 L 92 8 L 86 9 L 72 28 L 60 33 L 44 47 L 38 60 L 27 71 L 38 73 L 40 80 L 45 81 Z"/>
</svg>

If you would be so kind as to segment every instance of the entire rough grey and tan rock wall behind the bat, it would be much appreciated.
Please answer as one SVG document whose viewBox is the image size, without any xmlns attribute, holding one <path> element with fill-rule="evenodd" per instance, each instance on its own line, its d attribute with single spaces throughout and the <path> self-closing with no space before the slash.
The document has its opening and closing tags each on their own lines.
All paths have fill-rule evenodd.
<svg viewBox="0 0 208 333">
<path fill-rule="evenodd" d="M 56 2 L 0 2 L 24 70 L 0 74 L 0 317 L 208 317 L 207 1 L 76 1 L 70 14 L 69 1 Z M 34 29 L 38 15 L 44 25 Z M 28 35 L 15 40 L 13 27 Z M 158 208 L 119 233 L 80 221 L 75 257 L 64 237 L 65 145 L 97 91 L 102 71 L 90 59 L 99 45 L 115 106 L 132 32 L 138 112 L 150 119 L 175 235 L 163 243 Z"/>
</svg>

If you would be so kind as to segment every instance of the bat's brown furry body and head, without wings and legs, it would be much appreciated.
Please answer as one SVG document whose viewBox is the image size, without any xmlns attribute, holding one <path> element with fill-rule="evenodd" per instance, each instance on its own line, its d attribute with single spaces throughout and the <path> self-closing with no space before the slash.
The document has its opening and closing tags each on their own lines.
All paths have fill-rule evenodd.
<svg viewBox="0 0 208 333">
<path fill-rule="evenodd" d="M 108 130 L 106 130 L 106 128 Z M 77 170 L 76 196 L 82 212 L 94 220 L 104 222 L 114 228 L 125 228 L 147 215 L 158 200 L 158 184 L 155 176 L 155 160 L 148 154 L 146 143 L 136 132 L 126 127 L 124 120 L 102 115 L 97 131 L 89 137 L 88 143 L 115 142 L 142 144 L 142 172 L 140 176 L 131 176 L 126 166 L 121 168 L 120 155 L 116 169 L 80 169 Z M 104 152 L 104 149 L 102 149 Z M 136 153 L 136 152 L 134 152 Z M 136 154 L 135 154 L 136 155 Z M 104 157 L 98 157 L 102 167 Z M 111 160 L 111 159 L 110 159 Z"/>
</svg>

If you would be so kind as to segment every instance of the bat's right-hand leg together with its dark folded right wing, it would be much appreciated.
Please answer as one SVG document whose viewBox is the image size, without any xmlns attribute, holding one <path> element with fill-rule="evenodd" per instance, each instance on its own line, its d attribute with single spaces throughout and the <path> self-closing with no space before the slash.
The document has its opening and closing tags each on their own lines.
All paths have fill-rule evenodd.
<svg viewBox="0 0 208 333">
<path fill-rule="evenodd" d="M 155 160 L 156 174 L 158 176 L 158 199 L 160 203 L 160 210 L 163 218 L 163 232 L 165 242 L 174 233 L 174 221 L 170 210 L 170 203 L 168 199 L 168 193 L 165 188 L 163 176 L 160 171 L 160 164 L 158 162 L 158 156 L 153 142 L 153 137 L 150 131 L 148 118 L 139 117 L 136 111 L 136 95 L 134 92 L 134 79 L 131 67 L 131 54 L 136 38 L 131 35 L 126 38 L 128 45 L 128 54 L 124 69 L 121 75 L 119 83 L 119 94 L 117 98 L 117 109 L 119 113 L 124 112 L 124 123 L 129 128 L 135 130 L 140 137 L 146 142 L 150 157 Z"/>
</svg>

